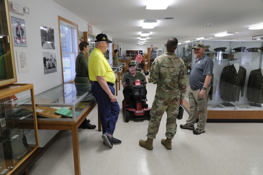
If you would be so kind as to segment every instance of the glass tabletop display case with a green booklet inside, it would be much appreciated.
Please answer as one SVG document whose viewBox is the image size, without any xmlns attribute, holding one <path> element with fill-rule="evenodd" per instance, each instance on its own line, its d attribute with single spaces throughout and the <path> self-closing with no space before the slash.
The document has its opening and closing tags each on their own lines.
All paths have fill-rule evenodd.
<svg viewBox="0 0 263 175">
<path fill-rule="evenodd" d="M 76 121 L 95 101 L 91 84 L 64 83 L 35 96 L 37 120 Z"/>
</svg>

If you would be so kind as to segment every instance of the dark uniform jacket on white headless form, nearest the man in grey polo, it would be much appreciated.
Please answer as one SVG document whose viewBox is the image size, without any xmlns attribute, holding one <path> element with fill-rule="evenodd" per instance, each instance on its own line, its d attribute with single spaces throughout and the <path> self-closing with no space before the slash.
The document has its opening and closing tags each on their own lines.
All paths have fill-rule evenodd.
<svg viewBox="0 0 263 175">
<path fill-rule="evenodd" d="M 240 91 L 241 97 L 244 96 L 245 79 L 244 67 L 239 66 L 238 73 L 234 64 L 224 67 L 219 82 L 220 98 L 229 102 L 239 101 Z"/>
</svg>

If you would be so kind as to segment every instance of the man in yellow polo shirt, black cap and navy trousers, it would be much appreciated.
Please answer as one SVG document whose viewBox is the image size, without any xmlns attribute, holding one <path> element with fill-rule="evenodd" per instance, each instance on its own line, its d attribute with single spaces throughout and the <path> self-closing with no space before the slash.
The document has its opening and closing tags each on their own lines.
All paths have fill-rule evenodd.
<svg viewBox="0 0 263 175">
<path fill-rule="evenodd" d="M 112 148 L 113 145 L 122 143 L 112 136 L 119 117 L 120 106 L 114 96 L 115 75 L 103 55 L 112 41 L 105 34 L 98 34 L 96 39 L 95 48 L 89 56 L 89 79 L 92 83 L 92 94 L 98 103 L 102 139 L 108 147 Z"/>
</svg>

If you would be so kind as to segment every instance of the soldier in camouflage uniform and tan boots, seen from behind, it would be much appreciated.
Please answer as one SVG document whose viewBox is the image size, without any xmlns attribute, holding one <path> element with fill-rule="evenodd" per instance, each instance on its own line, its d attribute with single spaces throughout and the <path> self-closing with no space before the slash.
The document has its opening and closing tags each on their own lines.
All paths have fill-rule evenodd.
<svg viewBox="0 0 263 175">
<path fill-rule="evenodd" d="M 166 139 L 161 140 L 166 149 L 170 150 L 171 140 L 176 133 L 176 116 L 179 113 L 179 104 L 183 104 L 186 91 L 186 65 L 182 59 L 174 54 L 177 48 L 176 38 L 168 39 L 166 52 L 155 58 L 151 66 L 149 83 L 156 84 L 155 98 L 151 107 L 151 119 L 148 126 L 147 140 L 140 140 L 139 145 L 148 150 L 153 149 L 161 118 L 164 112 L 166 119 Z"/>
</svg>

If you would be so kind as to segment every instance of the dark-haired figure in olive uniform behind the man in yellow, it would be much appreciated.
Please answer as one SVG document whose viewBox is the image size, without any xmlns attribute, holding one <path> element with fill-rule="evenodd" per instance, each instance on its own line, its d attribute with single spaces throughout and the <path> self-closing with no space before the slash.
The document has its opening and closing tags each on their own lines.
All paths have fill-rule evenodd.
<svg viewBox="0 0 263 175">
<path fill-rule="evenodd" d="M 81 41 L 79 43 L 79 54 L 76 57 L 76 62 L 75 62 L 75 83 L 89 83 L 89 70 L 88 70 L 88 59 L 86 57 L 87 54 L 89 54 L 89 43 L 86 41 Z M 77 92 L 78 89 L 81 87 L 77 84 L 75 84 Z M 82 124 L 79 126 L 79 128 L 82 129 L 94 129 L 96 128 L 96 125 L 92 125 L 89 123 L 90 120 L 85 120 L 82 122 Z"/>
</svg>

